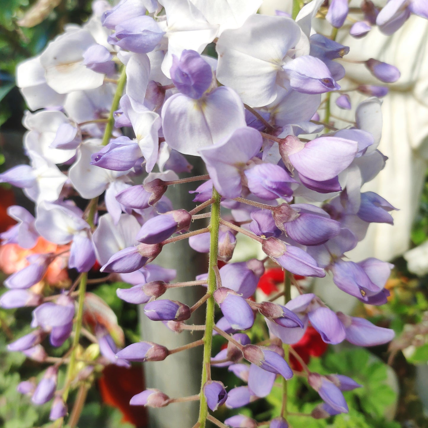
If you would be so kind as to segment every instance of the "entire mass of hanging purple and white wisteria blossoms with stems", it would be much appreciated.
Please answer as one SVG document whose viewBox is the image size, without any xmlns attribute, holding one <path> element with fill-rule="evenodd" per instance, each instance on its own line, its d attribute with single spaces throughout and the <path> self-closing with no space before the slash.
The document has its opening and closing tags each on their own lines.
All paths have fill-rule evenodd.
<svg viewBox="0 0 428 428">
<path fill-rule="evenodd" d="M 196 346 L 204 349 L 199 392 L 170 398 L 149 388 L 131 405 L 198 400 L 196 428 L 207 420 L 219 427 L 260 426 L 244 415 L 223 423 L 208 409 L 238 408 L 268 396 L 278 377 L 285 384 L 294 375 L 288 365 L 293 356 L 303 367 L 298 374 L 323 400 L 312 416 L 346 413 L 342 392 L 360 385 L 341 374 L 311 372 L 289 345 L 309 324 L 333 345 L 346 340 L 373 346 L 394 336 L 366 319 L 334 312 L 293 277 L 328 273 L 340 290 L 362 302 L 386 303 L 392 265 L 374 258 L 352 262 L 345 254 L 370 223 L 393 223 L 390 212 L 396 208 L 376 193 L 361 192 L 386 162 L 377 150 L 382 127 L 377 97 L 387 89 L 382 83 L 358 88 L 370 97 L 354 106 L 354 125 L 335 128 L 331 93 L 339 94 L 339 107 L 351 108 L 338 83 L 349 48 L 335 41 L 348 1 L 331 0 L 327 9 L 323 0 L 312 0 L 301 10 L 295 1 L 293 17 L 260 15 L 261 3 L 121 0 L 111 7 L 97 0 L 86 24 L 69 25 L 41 55 L 18 66 L 18 86 L 33 111 L 24 117 L 30 164 L 9 169 L 0 181 L 23 189 L 36 211 L 33 216 L 10 207 L 18 223 L 1 238 L 3 244 L 31 249 L 42 237 L 61 247 L 29 256 L 27 266 L 6 279 L 0 305 L 35 307 L 33 330 L 9 350 L 53 362 L 38 384 L 29 380 L 19 390 L 34 404 L 52 400 L 51 419 L 59 426 L 70 389 L 92 376 L 96 366 L 160 361 Z M 351 35 L 363 37 L 375 25 L 391 34 L 412 13 L 428 18 L 427 3 L 390 0 L 379 9 L 363 0 Z M 331 24 L 331 35 L 314 32 L 316 16 Z M 215 48 L 215 57 L 206 54 L 207 46 Z M 377 59 L 365 65 L 384 83 L 400 76 L 395 66 Z M 191 175 L 192 158 L 184 155 L 202 158 L 208 174 Z M 202 182 L 192 191 L 198 205 L 191 211 L 173 207 L 164 195 L 168 187 L 193 181 Z M 77 206 L 76 196 L 88 200 L 86 208 Z M 209 213 L 202 212 L 208 207 Z M 205 218 L 208 226 L 194 227 Z M 259 243 L 266 258 L 229 262 L 238 234 Z M 171 283 L 175 273 L 152 262 L 164 246 L 187 238 L 191 248 L 208 253 L 208 273 Z M 58 257 L 80 273 L 78 280 L 58 294 L 35 288 Z M 275 296 L 282 301 L 253 298 L 268 259 L 285 271 L 284 289 Z M 219 269 L 218 261 L 226 264 Z M 96 262 L 110 273 L 106 280 L 132 285 L 118 289 L 122 300 L 144 304 L 150 320 L 177 333 L 203 330 L 203 339 L 174 349 L 152 342 L 120 349 L 123 338 L 113 337 L 96 316 L 85 324 L 83 318 L 96 306 L 86 293 L 87 272 Z M 186 286 L 204 288 L 204 297 L 193 306 L 168 299 L 169 288 Z M 298 293 L 292 299 L 291 286 Z M 216 303 L 221 318 L 214 323 Z M 186 323 L 201 306 L 206 306 L 205 324 Z M 256 317 L 267 324 L 267 343 L 251 343 L 243 333 Z M 68 353 L 48 357 L 43 342 L 58 347 L 71 334 Z M 227 342 L 216 356 L 211 355 L 213 334 Z M 82 336 L 101 356 L 91 360 L 91 350 L 82 351 Z M 58 385 L 58 368 L 65 363 L 67 375 Z M 227 367 L 247 386 L 226 390 L 211 378 L 211 366 Z M 288 426 L 285 404 L 281 416 L 266 426 Z"/>
</svg>

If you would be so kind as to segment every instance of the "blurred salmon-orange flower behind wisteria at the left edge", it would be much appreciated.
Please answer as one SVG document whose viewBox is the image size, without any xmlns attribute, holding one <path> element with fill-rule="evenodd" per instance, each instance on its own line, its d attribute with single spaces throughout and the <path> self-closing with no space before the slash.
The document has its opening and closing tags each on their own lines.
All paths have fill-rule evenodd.
<svg viewBox="0 0 428 428">
<path fill-rule="evenodd" d="M 18 244 L 5 244 L 0 246 L 0 270 L 7 275 L 18 272 L 28 266 L 30 263 L 27 260 L 28 256 L 33 254 L 46 254 L 46 253 L 63 253 L 70 248 L 69 245 L 57 245 L 52 242 L 46 241 L 41 236 L 37 239 L 36 245 L 30 250 L 20 247 Z M 71 284 L 67 272 L 67 257 L 58 256 L 49 265 L 42 281 L 33 285 L 38 291 L 44 287 L 45 284 L 67 288 Z"/>
</svg>

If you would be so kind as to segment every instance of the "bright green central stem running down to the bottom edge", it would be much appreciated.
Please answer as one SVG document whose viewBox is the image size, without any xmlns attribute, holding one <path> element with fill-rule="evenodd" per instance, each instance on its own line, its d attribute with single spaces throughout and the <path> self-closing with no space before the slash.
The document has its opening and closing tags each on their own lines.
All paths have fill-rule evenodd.
<svg viewBox="0 0 428 428">
<path fill-rule="evenodd" d="M 213 293 L 216 290 L 216 274 L 214 267 L 217 266 L 218 253 L 218 228 L 220 226 L 220 195 L 213 187 L 214 202 L 211 205 L 211 221 L 210 221 L 210 256 L 208 262 L 208 300 L 207 300 L 207 315 L 205 320 L 204 334 L 204 357 L 202 362 L 202 381 L 199 406 L 199 427 L 205 428 L 208 417 L 208 405 L 205 394 L 202 391 L 205 382 L 210 379 L 210 363 L 211 363 L 211 342 L 214 328 L 214 297 Z"/>
</svg>

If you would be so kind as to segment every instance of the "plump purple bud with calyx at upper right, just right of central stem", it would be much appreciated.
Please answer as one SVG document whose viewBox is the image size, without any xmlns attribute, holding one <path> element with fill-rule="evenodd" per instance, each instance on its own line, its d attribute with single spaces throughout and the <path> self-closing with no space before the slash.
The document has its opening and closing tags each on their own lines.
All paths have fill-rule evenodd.
<svg viewBox="0 0 428 428">
<path fill-rule="evenodd" d="M 247 299 L 255 293 L 257 283 L 264 272 L 263 263 L 251 259 L 248 262 L 224 265 L 220 268 L 220 278 L 223 287 L 230 288 Z"/>
</svg>

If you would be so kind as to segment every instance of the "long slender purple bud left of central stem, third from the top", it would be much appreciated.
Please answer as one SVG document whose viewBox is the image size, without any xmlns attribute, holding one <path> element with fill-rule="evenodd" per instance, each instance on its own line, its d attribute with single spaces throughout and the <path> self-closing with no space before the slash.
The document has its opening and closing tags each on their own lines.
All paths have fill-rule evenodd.
<svg viewBox="0 0 428 428">
<path fill-rule="evenodd" d="M 162 250 L 161 244 L 140 244 L 127 247 L 110 257 L 101 272 L 130 273 L 152 262 Z"/>
</svg>

